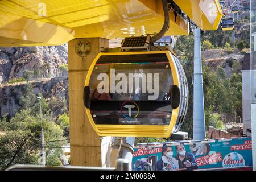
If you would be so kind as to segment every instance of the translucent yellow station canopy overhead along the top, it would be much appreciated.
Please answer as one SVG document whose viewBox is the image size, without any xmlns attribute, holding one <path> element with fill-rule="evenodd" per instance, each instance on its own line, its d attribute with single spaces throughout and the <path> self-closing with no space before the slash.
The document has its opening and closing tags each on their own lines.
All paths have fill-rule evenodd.
<svg viewBox="0 0 256 182">
<path fill-rule="evenodd" d="M 217 0 L 175 0 L 203 30 L 216 30 Z M 209 14 L 209 12 L 211 12 Z M 172 12 L 166 35 L 188 35 L 189 23 Z M 160 0 L 1 0 L 0 46 L 59 45 L 74 38 L 106 39 L 159 32 Z"/>
</svg>

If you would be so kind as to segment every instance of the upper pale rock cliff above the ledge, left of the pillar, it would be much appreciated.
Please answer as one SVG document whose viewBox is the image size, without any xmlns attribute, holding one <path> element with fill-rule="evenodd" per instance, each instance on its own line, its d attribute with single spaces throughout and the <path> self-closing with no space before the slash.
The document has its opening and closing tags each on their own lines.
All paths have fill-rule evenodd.
<svg viewBox="0 0 256 182">
<path fill-rule="evenodd" d="M 67 44 L 44 47 L 0 47 L 0 84 L 22 77 L 26 70 L 38 71 L 40 78 L 57 77 L 60 75 L 59 66 L 63 63 L 68 63 Z"/>
</svg>

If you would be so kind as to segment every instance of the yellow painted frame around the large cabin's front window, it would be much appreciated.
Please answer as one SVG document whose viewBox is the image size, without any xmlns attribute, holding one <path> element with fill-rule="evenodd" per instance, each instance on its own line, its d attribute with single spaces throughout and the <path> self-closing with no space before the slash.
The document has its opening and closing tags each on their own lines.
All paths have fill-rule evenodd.
<svg viewBox="0 0 256 182">
<path fill-rule="evenodd" d="M 177 67 L 170 51 L 146 51 L 146 52 L 114 52 L 114 53 L 99 53 L 94 59 L 89 71 L 86 75 L 85 86 L 89 86 L 90 76 L 92 75 L 94 66 L 97 60 L 102 55 L 139 55 L 139 54 L 155 54 L 165 53 L 168 57 L 172 70 L 174 85 L 180 88 L 180 78 L 177 72 Z M 172 129 L 175 126 L 179 114 L 179 107 L 172 110 L 170 124 L 167 125 L 96 125 L 93 121 L 90 109 L 85 109 L 89 121 L 99 136 L 115 136 L 115 137 L 170 137 Z"/>
</svg>

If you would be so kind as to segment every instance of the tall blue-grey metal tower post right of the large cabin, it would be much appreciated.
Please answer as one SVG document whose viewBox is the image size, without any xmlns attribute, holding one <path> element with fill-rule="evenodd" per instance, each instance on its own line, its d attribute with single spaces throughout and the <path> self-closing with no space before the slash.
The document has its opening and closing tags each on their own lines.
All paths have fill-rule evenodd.
<svg viewBox="0 0 256 182">
<path fill-rule="evenodd" d="M 205 139 L 200 28 L 194 30 L 193 140 Z"/>
</svg>

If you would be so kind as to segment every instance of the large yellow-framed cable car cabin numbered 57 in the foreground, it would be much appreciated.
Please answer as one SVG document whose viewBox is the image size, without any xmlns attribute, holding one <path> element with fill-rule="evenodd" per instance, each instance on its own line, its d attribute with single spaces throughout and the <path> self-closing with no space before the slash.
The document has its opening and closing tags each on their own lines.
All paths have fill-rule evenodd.
<svg viewBox="0 0 256 182">
<path fill-rule="evenodd" d="M 187 113 L 187 78 L 170 51 L 99 53 L 84 104 L 100 136 L 170 137 Z"/>
</svg>

